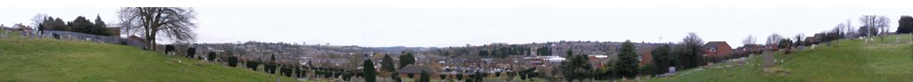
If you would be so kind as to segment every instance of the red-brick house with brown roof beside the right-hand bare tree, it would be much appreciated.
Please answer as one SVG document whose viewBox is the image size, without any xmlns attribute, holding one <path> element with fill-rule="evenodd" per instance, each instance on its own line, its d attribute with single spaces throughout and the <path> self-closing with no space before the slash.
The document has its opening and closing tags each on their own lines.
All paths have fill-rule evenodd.
<svg viewBox="0 0 913 82">
<path fill-rule="evenodd" d="M 732 47 L 726 41 L 710 41 L 701 48 L 704 56 L 726 56 L 732 52 Z"/>
</svg>

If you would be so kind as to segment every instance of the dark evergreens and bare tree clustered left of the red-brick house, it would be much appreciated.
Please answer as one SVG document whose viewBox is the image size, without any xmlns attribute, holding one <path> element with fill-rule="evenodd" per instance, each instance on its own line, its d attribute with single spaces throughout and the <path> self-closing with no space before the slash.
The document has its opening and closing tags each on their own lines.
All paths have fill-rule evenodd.
<svg viewBox="0 0 913 82">
<path fill-rule="evenodd" d="M 682 42 L 672 46 L 658 46 L 651 51 L 654 57 L 654 64 L 639 64 L 636 46 L 631 41 L 625 41 L 622 47 L 618 49 L 618 59 L 606 63 L 602 69 L 596 69 L 589 62 L 585 54 L 574 54 L 572 50 L 567 51 L 567 60 L 561 62 L 561 73 L 566 81 L 583 80 L 583 79 L 609 79 L 622 77 L 636 77 L 638 75 L 654 75 L 666 73 L 665 68 L 677 67 L 685 69 L 703 66 L 708 60 L 701 54 L 703 40 L 695 33 L 689 33 Z"/>
</svg>

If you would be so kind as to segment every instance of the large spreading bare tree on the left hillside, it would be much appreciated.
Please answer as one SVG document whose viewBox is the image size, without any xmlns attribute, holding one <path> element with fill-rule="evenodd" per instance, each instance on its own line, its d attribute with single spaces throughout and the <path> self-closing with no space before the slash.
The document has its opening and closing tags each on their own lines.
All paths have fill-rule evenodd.
<svg viewBox="0 0 913 82">
<path fill-rule="evenodd" d="M 123 7 L 118 12 L 121 26 L 142 34 L 152 50 L 156 37 L 163 35 L 175 42 L 192 42 L 196 38 L 194 28 L 196 12 L 183 7 Z"/>
</svg>

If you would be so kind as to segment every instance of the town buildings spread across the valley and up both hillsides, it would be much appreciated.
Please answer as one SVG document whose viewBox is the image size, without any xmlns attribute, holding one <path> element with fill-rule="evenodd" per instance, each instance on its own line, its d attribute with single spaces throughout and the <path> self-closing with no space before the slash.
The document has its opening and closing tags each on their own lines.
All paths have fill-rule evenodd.
<svg viewBox="0 0 913 82">
<path fill-rule="evenodd" d="M 22 32 L 35 32 L 33 28 L 23 25 L 14 25 L 12 27 L 0 26 L 5 30 L 17 30 Z M 109 28 L 110 31 L 120 33 L 117 27 Z M 62 35 L 72 39 L 100 39 L 98 36 L 86 37 L 78 35 L 58 34 L 53 32 L 52 35 Z M 46 35 L 47 36 L 47 35 Z M 815 35 L 805 37 L 806 42 L 813 42 L 816 39 L 823 38 L 824 35 Z M 54 36 L 57 38 L 57 36 Z M 111 37 L 120 37 L 115 35 Z M 140 36 L 121 37 L 135 42 L 145 43 Z M 113 42 L 103 42 L 110 43 Z M 197 48 L 195 51 L 198 55 L 215 53 L 217 56 L 238 56 L 242 61 L 260 61 L 276 62 L 281 65 L 299 65 L 313 67 L 341 68 L 348 70 L 359 70 L 360 61 L 371 59 L 374 61 L 375 69 L 379 69 L 383 56 L 400 56 L 404 53 L 415 54 L 416 64 L 405 66 L 397 73 L 408 75 L 418 74 L 421 70 L 432 71 L 433 74 L 461 74 L 474 73 L 478 71 L 487 72 L 509 72 L 518 71 L 528 68 L 557 68 L 561 61 L 567 56 L 565 51 L 571 50 L 575 55 L 587 55 L 591 66 L 600 68 L 617 59 L 622 42 L 598 42 L 598 41 L 560 41 L 546 43 L 530 44 L 504 44 L 494 43 L 482 46 L 450 46 L 450 47 L 364 47 L 364 46 L 331 46 L 322 45 L 305 45 L 298 43 L 266 43 L 266 42 L 245 42 L 245 43 L 195 43 L 195 44 L 174 44 L 183 46 L 176 49 L 177 52 L 185 52 L 187 47 Z M 651 51 L 658 46 L 670 45 L 671 43 L 635 43 L 637 60 L 640 65 L 652 64 L 653 58 Z M 138 46 L 148 48 L 146 46 Z M 160 48 L 157 46 L 153 48 Z M 744 45 L 732 48 L 725 41 L 709 41 L 703 45 L 701 54 L 704 57 L 745 55 L 761 52 L 763 50 L 778 50 L 776 44 L 767 45 Z M 513 52 L 513 53 L 505 53 Z M 180 53 L 175 53 L 180 54 Z M 270 59 L 276 56 L 275 60 Z M 218 60 L 218 59 L 217 59 Z M 394 62 L 399 58 L 394 57 Z M 401 75 L 402 76 L 402 75 Z"/>
</svg>

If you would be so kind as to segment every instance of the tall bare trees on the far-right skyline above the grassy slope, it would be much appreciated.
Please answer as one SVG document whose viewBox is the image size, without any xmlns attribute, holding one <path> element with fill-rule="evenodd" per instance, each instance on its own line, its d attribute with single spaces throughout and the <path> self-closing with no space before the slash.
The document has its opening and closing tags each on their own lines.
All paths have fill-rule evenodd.
<svg viewBox="0 0 913 82">
<path fill-rule="evenodd" d="M 891 20 L 888 19 L 885 15 L 863 15 L 859 17 L 859 22 L 862 23 L 863 26 L 877 28 L 872 29 L 878 30 L 876 32 L 886 33 L 887 26 L 889 26 L 888 24 L 891 23 Z"/>
</svg>

